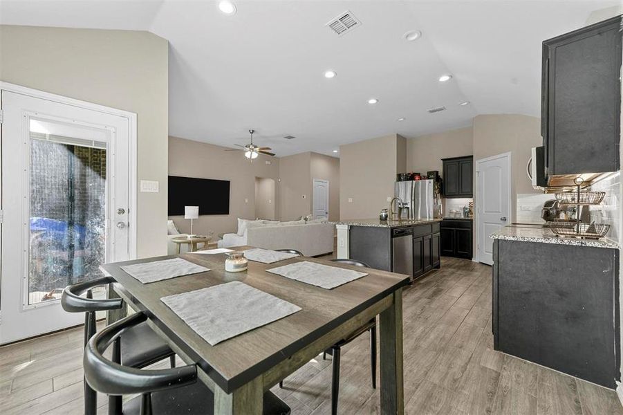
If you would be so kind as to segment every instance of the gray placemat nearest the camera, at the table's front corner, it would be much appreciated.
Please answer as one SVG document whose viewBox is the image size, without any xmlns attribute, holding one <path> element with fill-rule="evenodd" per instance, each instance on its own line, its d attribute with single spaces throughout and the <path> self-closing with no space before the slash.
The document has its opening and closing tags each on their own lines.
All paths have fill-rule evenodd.
<svg viewBox="0 0 623 415">
<path fill-rule="evenodd" d="M 169 295 L 162 302 L 212 346 L 301 311 L 239 281 Z"/>
</svg>

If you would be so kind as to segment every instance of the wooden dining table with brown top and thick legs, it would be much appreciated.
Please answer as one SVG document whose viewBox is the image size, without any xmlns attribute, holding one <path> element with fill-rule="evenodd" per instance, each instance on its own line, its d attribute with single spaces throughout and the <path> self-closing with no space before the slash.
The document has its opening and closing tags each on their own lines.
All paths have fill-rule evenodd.
<svg viewBox="0 0 623 415">
<path fill-rule="evenodd" d="M 250 249 L 250 246 L 235 250 Z M 210 271 L 142 284 L 120 267 L 181 257 Z M 326 259 L 295 257 L 274 264 L 249 261 L 241 273 L 225 271 L 226 255 L 183 254 L 106 264 L 119 295 L 214 391 L 214 414 L 261 414 L 263 393 L 378 315 L 380 411 L 402 414 L 402 287 L 409 275 L 337 264 Z M 295 261 L 313 261 L 368 273 L 331 290 L 268 273 Z M 211 346 L 160 299 L 225 282 L 239 281 L 301 307 L 301 311 Z M 116 293 L 116 294 L 115 294 Z M 210 307 L 210 304 L 205 304 Z M 109 323 L 123 317 L 111 313 Z"/>
</svg>

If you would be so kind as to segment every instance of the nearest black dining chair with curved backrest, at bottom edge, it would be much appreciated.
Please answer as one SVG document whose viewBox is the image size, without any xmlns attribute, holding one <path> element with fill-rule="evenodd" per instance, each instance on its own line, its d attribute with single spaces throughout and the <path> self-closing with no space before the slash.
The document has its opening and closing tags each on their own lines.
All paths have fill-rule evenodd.
<svg viewBox="0 0 623 415">
<path fill-rule="evenodd" d="M 119 365 L 104 357 L 111 344 L 119 353 L 119 338 L 147 320 L 136 313 L 105 327 L 93 335 L 84 349 L 84 375 L 96 391 L 109 395 L 140 394 L 124 403 L 124 415 L 213 414 L 214 394 L 197 381 L 196 365 L 171 369 L 141 370 Z M 290 407 L 272 392 L 263 396 L 263 414 L 288 415 Z"/>
</svg>

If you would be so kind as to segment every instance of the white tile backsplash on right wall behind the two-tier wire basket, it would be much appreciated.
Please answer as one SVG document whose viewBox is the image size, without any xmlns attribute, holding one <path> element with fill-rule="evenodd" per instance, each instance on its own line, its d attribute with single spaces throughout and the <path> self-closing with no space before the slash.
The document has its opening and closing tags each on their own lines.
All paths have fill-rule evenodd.
<svg viewBox="0 0 623 415">
<path fill-rule="evenodd" d="M 595 223 L 608 223 L 610 230 L 606 237 L 620 243 L 621 237 L 621 173 L 616 172 L 594 185 L 591 190 L 594 192 L 606 192 L 604 201 L 599 206 L 591 206 L 591 221 Z"/>
</svg>

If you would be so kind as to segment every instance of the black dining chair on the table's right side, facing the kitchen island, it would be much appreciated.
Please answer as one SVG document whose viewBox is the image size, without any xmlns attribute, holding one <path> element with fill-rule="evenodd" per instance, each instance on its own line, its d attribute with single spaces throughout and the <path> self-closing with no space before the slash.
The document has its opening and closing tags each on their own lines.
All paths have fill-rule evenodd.
<svg viewBox="0 0 623 415">
<path fill-rule="evenodd" d="M 338 264 L 344 265 L 352 265 L 352 266 L 362 266 L 365 268 L 370 268 L 368 264 L 363 261 L 357 261 L 356 259 L 342 259 L 336 258 L 331 259 L 333 262 L 337 262 Z M 346 336 L 346 338 L 340 340 L 339 342 L 333 344 L 331 349 L 327 349 L 322 352 L 322 358 L 326 358 L 326 354 L 330 354 L 333 356 L 333 378 L 331 380 L 331 414 L 337 414 L 337 397 L 340 394 L 340 353 L 342 347 L 346 346 L 346 344 L 352 342 L 360 335 L 365 333 L 366 331 L 370 332 L 370 364 L 372 371 L 372 388 L 376 389 L 376 317 L 361 326 L 359 329 L 353 331 L 350 335 Z M 283 387 L 283 380 L 279 382 L 279 387 Z"/>
</svg>

